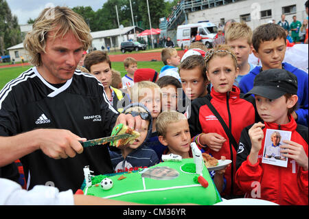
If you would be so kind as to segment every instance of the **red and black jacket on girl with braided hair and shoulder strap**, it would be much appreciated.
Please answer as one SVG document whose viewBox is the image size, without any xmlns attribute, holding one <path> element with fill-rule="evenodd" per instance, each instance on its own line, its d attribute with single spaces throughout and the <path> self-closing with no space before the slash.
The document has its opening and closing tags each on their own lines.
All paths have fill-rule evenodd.
<svg viewBox="0 0 309 219">
<path fill-rule="evenodd" d="M 207 106 L 206 98 L 225 121 L 237 143 L 240 139 L 240 133 L 245 127 L 260 121 L 255 108 L 255 100 L 252 96 L 244 97 L 244 94 L 240 93 L 240 89 L 236 86 L 233 86 L 232 91 L 228 93 L 218 93 L 212 88 L 210 94 L 192 101 L 191 112 L 187 114 L 191 137 L 200 133 L 216 132 L 227 139 L 219 152 L 215 152 L 208 147 L 203 149 L 216 159 L 225 156 L 233 161 L 233 165 L 227 168 L 225 172 L 227 187 L 223 195 L 240 194 L 240 191 L 232 183 L 236 173 L 236 149 L 232 146 L 229 137 L 214 113 Z"/>
</svg>

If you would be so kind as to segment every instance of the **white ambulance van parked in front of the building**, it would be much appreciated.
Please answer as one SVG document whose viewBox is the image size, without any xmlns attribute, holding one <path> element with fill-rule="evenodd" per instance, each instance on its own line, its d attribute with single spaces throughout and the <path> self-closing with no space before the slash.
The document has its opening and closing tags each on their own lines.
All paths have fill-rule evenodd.
<svg viewBox="0 0 309 219">
<path fill-rule="evenodd" d="M 191 23 L 179 25 L 177 27 L 177 45 L 181 48 L 186 45 L 189 47 L 192 36 L 195 36 L 197 31 L 202 36 L 202 42 L 207 48 L 212 47 L 214 37 L 218 32 L 218 27 L 209 21 L 199 21 L 198 23 Z"/>
</svg>

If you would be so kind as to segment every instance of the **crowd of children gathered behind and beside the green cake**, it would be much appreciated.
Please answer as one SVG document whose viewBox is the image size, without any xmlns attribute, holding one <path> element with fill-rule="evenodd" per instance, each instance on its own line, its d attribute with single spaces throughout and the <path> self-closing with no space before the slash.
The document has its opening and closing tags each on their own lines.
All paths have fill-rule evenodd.
<svg viewBox="0 0 309 219">
<path fill-rule="evenodd" d="M 160 73 L 138 69 L 137 60 L 126 58 L 123 78 L 106 52 L 83 58 L 111 106 L 142 119 L 140 137 L 110 149 L 115 172 L 150 167 L 162 162 L 162 154 L 192 157 L 194 141 L 203 153 L 231 159 L 213 176 L 222 197 L 254 197 L 258 183 L 255 198 L 308 205 L 308 73 L 283 62 L 284 29 L 267 23 L 252 32 L 232 23 L 224 45 L 207 50 L 196 42 L 187 53 L 192 49 L 181 60 L 176 49 L 164 48 Z M 262 66 L 249 63 L 251 53 Z M 262 163 L 268 129 L 292 132 L 279 146 L 289 159 L 286 168 Z"/>
</svg>

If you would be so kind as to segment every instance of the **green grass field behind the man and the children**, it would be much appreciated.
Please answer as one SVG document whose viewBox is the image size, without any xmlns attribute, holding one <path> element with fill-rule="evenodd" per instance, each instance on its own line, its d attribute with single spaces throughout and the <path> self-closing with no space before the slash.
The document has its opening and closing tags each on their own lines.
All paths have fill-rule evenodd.
<svg viewBox="0 0 309 219">
<path fill-rule="evenodd" d="M 27 71 L 31 66 L 27 67 L 10 67 L 0 69 L 0 90 L 5 86 L 6 83 L 10 82 L 14 78 L 17 78 L 21 73 Z M 163 67 L 163 63 L 161 61 L 156 62 L 138 62 L 137 67 L 139 69 L 142 68 L 150 68 L 155 69 L 158 73 Z M 124 69 L 123 62 L 112 62 L 112 68 L 119 71 L 122 74 L 122 77 L 126 74 L 126 70 Z"/>
</svg>

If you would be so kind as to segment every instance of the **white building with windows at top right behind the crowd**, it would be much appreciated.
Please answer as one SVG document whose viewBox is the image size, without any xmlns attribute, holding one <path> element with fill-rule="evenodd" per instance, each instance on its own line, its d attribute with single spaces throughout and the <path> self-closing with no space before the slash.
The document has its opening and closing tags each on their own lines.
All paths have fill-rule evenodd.
<svg viewBox="0 0 309 219">
<path fill-rule="evenodd" d="M 192 1 L 193 2 L 193 1 Z M 197 23 L 198 21 L 211 21 L 212 23 L 225 23 L 229 19 L 237 22 L 246 21 L 252 30 L 259 25 L 275 20 L 280 21 L 281 15 L 286 15 L 286 21 L 291 23 L 293 16 L 297 20 L 304 21 L 307 18 L 304 0 L 244 0 L 227 3 L 226 5 L 217 5 L 205 10 L 196 10 L 187 14 L 188 23 Z"/>
</svg>

